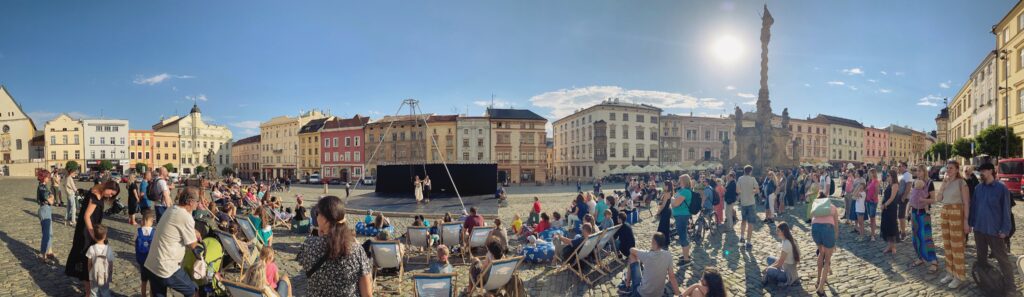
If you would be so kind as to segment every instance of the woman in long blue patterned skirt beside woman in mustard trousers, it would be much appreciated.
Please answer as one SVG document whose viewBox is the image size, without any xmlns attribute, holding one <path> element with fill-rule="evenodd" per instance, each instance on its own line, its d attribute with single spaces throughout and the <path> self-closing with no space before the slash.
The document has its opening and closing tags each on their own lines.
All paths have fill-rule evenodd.
<svg viewBox="0 0 1024 297">
<path fill-rule="evenodd" d="M 911 267 L 928 263 L 928 272 L 933 273 L 939 270 L 939 258 L 935 255 L 935 241 L 932 238 L 932 214 L 928 208 L 935 199 L 929 190 L 931 180 L 928 177 L 928 170 L 924 165 L 918 165 L 914 169 L 915 178 L 913 187 L 910 188 L 910 227 L 913 235 L 913 250 L 918 258 L 910 263 Z"/>
</svg>

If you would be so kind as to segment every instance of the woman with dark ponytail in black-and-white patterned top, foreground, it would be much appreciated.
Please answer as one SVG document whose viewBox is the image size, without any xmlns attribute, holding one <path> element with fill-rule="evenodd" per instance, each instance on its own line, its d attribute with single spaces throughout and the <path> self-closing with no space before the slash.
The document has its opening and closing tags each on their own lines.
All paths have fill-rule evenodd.
<svg viewBox="0 0 1024 297">
<path fill-rule="evenodd" d="M 325 197 L 316 203 L 316 210 L 318 236 L 306 238 L 298 257 L 309 284 L 306 294 L 373 296 L 373 266 L 345 221 L 341 199 Z"/>
</svg>

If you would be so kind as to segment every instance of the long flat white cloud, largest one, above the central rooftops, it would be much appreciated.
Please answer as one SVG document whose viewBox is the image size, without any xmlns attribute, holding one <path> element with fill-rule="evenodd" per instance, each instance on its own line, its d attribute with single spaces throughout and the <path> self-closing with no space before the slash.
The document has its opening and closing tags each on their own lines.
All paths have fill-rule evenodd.
<svg viewBox="0 0 1024 297">
<path fill-rule="evenodd" d="M 608 98 L 647 103 L 662 109 L 718 109 L 724 104 L 714 98 L 697 98 L 689 94 L 664 91 L 629 90 L 618 86 L 560 89 L 535 95 L 529 98 L 529 102 L 535 107 L 551 109 L 551 116 L 558 119 L 571 115 L 581 107 L 597 104 Z"/>
</svg>

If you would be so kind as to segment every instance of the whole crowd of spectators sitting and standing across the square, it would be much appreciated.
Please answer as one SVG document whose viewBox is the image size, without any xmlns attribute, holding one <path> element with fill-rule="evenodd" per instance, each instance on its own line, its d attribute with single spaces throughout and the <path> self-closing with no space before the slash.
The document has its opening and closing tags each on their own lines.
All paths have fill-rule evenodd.
<svg viewBox="0 0 1024 297">
<path fill-rule="evenodd" d="M 620 293 L 629 296 L 666 293 L 725 296 L 722 275 L 716 267 L 703 267 L 700 281 L 687 288 L 682 288 L 675 275 L 677 269 L 692 263 L 691 243 L 708 240 L 691 238 L 695 217 L 708 216 L 715 229 L 738 232 L 739 246 L 748 250 L 753 249 L 756 242 L 756 224 L 772 226 L 769 230 L 779 241 L 778 253 L 766 259 L 762 273 L 765 285 L 800 284 L 797 265 L 805 257 L 801 256 L 797 238 L 810 238 L 816 246 L 815 292 L 823 296 L 831 274 L 831 256 L 841 236 L 840 226 L 849 224 L 856 241 L 885 242 L 883 254 L 895 254 L 903 242 L 909 242 L 915 255 L 910 267 L 925 266 L 930 273 L 942 270 L 944 277 L 940 282 L 952 289 L 968 282 L 965 250 L 968 237 L 973 235 L 978 260 L 987 260 L 991 255 L 1000 273 L 1008 275 L 1005 286 L 1015 288 L 1009 256 L 1009 238 L 1015 230 L 1009 190 L 995 178 L 991 164 L 982 164 L 977 171 L 961 168 L 952 161 L 945 166 L 947 170 L 938 188 L 924 166 L 908 167 L 906 164 L 862 166 L 845 172 L 810 168 L 765 170 L 761 178 L 754 175 L 750 166 L 670 178 L 636 176 L 625 178 L 623 190 L 607 194 L 599 182 L 594 184 L 593 190 L 584 190 L 578 183 L 575 199 L 564 208 L 548 211 L 541 199 L 534 198 L 528 214 L 516 214 L 508 224 L 501 219 L 490 222 L 495 229 L 487 235 L 484 257 L 473 258 L 469 263 L 470 279 L 477 280 L 489 263 L 516 253 L 510 248 L 511 241 L 519 241 L 525 246 L 548 244 L 541 235 L 560 230 L 550 238 L 550 244 L 558 254 L 557 259 L 564 261 L 577 257 L 574 253 L 591 235 L 620 226 L 613 237 L 615 256 L 628 262 L 626 281 L 620 285 Z M 40 258 L 56 262 L 51 251 L 52 208 L 63 206 L 69 214 L 63 223 L 75 227 L 66 273 L 81 280 L 88 296 L 110 296 L 113 254 L 105 245 L 108 230 L 102 220 L 104 207 L 116 200 L 121 185 L 118 181 L 105 180 L 90 188 L 78 189 L 74 172 L 41 170 L 37 177 L 42 229 Z M 196 267 L 203 266 L 199 264 L 203 261 L 197 260 L 186 268 L 180 255 L 190 253 L 196 259 L 203 259 L 204 239 L 214 237 L 214 231 L 231 235 L 244 247 L 262 247 L 258 249 L 258 260 L 239 281 L 290 296 L 291 278 L 282 273 L 274 263 L 273 227 L 290 228 L 292 222 L 306 218 L 311 220 L 315 231 L 304 240 L 296 259 L 305 274 L 306 294 L 374 294 L 370 241 L 361 246 L 356 242 L 354 226 L 347 221 L 340 198 L 321 198 L 307 216 L 301 196 L 296 196 L 294 210 L 286 209 L 283 200 L 271 194 L 273 184 L 244 185 L 238 179 L 228 178 L 176 188 L 178 186 L 168 182 L 168 172 L 164 168 L 131 176 L 128 180 L 128 222 L 137 226 L 135 259 L 143 296 L 147 292 L 164 296 L 168 289 L 185 296 L 210 290 L 203 287 L 209 283 L 198 282 L 205 278 Z M 429 199 L 426 194 L 429 179 L 417 178 L 414 182 L 417 202 Z M 663 182 L 660 187 L 658 182 Z M 178 193 L 176 196 L 172 194 L 174 190 Z M 941 207 L 933 207 L 936 205 Z M 763 216 L 759 208 L 763 208 Z M 656 224 L 650 249 L 639 249 L 636 245 L 633 225 L 640 223 L 638 212 L 641 209 L 650 210 L 653 213 L 651 223 Z M 937 257 L 938 247 L 933 236 L 932 215 L 936 213 L 939 217 L 935 222 L 941 226 L 943 259 Z M 258 235 L 254 241 L 244 235 L 244 226 L 237 220 L 240 216 L 251 222 Z M 809 234 L 800 234 L 800 228 L 792 227 L 795 221 L 787 220 L 786 216 L 795 218 L 796 222 L 810 224 Z M 526 221 L 521 217 L 526 217 Z M 445 214 L 440 223 L 455 221 L 462 223 L 464 240 L 470 238 L 473 228 L 487 225 L 475 208 L 462 216 Z M 390 222 L 383 213 L 375 215 L 371 211 L 362 223 L 387 230 L 377 234 L 377 240 L 408 237 L 389 228 Z M 738 230 L 736 224 L 739 224 Z M 423 216 L 417 216 L 414 225 L 430 227 L 429 246 L 437 257 L 429 264 L 429 271 L 452 271 L 449 256 L 465 252 L 462 249 L 467 249 L 467 243 L 441 244 L 437 238 L 439 224 L 431 225 Z M 674 243 L 681 248 L 679 255 L 670 252 Z M 226 280 L 217 271 L 206 277 Z M 514 287 L 516 282 L 510 284 L 513 287 L 509 290 L 518 290 Z M 521 289 L 521 284 L 518 286 Z"/>
</svg>

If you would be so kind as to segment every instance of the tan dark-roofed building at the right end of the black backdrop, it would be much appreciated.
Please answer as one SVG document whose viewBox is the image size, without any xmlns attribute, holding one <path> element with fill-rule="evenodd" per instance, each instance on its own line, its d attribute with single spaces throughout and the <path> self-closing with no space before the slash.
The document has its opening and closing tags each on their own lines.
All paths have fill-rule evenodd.
<svg viewBox="0 0 1024 297">
<path fill-rule="evenodd" d="M 512 183 L 548 180 L 545 158 L 548 119 L 529 110 L 487 109 L 498 179 Z"/>
</svg>

